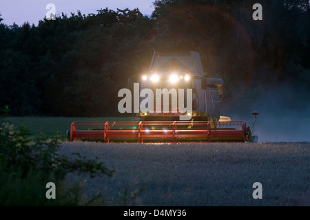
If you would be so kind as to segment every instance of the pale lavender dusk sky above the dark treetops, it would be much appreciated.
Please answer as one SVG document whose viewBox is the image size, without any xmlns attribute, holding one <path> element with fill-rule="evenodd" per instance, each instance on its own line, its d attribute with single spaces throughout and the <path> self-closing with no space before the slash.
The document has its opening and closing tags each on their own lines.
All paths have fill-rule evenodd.
<svg viewBox="0 0 310 220">
<path fill-rule="evenodd" d="M 140 12 L 152 14 L 154 10 L 153 2 L 155 0 L 1 0 L 0 14 L 3 19 L 2 23 L 12 25 L 22 25 L 25 21 L 37 25 L 39 20 L 45 17 L 48 12 L 46 5 L 53 3 L 56 8 L 56 14 L 70 15 L 70 12 L 76 13 L 78 10 L 82 14 L 96 14 L 96 10 L 109 8 L 111 10 L 129 8 L 133 10 L 138 8 Z"/>
</svg>

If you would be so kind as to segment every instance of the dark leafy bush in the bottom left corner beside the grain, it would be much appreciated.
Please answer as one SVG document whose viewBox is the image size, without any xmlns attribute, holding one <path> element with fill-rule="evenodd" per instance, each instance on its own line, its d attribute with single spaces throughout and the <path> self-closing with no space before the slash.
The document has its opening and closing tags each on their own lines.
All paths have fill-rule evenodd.
<svg viewBox="0 0 310 220">
<path fill-rule="evenodd" d="M 60 156 L 60 137 L 34 136 L 24 126 L 9 122 L 0 125 L 0 206 L 85 206 L 104 205 L 99 197 L 83 196 L 83 186 L 67 186 L 68 173 L 89 174 L 90 177 L 112 176 L 114 170 L 97 159 L 75 159 Z M 45 197 L 46 184 L 56 186 L 56 199 Z M 100 200 L 100 201 L 99 201 Z"/>
</svg>

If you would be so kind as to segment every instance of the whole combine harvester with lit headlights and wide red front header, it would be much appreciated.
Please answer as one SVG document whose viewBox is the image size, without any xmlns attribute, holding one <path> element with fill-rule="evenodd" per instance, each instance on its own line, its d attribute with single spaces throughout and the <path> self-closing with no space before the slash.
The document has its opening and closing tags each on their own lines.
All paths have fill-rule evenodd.
<svg viewBox="0 0 310 220">
<path fill-rule="evenodd" d="M 223 80 L 204 76 L 197 52 L 190 52 L 190 56 L 163 56 L 154 52 L 147 74 L 130 77 L 128 88 L 131 94 L 138 94 L 138 105 L 134 106 L 138 121 L 72 122 L 68 138 L 107 143 L 258 141 L 257 135 L 252 134 L 257 111 L 253 112 L 255 120 L 251 126 L 220 116 Z M 174 93 L 176 89 L 178 94 Z"/>
</svg>

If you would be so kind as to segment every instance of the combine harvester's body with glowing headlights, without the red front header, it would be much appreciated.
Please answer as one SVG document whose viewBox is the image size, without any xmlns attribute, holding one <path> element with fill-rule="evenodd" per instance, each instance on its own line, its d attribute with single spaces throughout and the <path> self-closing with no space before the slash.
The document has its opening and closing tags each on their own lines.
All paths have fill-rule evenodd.
<svg viewBox="0 0 310 220">
<path fill-rule="evenodd" d="M 145 100 L 152 107 L 146 106 L 148 111 L 139 111 L 138 117 L 143 121 L 178 120 L 180 115 L 185 114 L 178 111 L 185 104 L 187 109 L 191 109 L 186 113 L 192 120 L 229 122 L 229 117 L 220 116 L 223 80 L 204 75 L 197 52 L 190 52 L 190 56 L 163 56 L 160 52 L 154 52 L 148 72 L 128 79 L 131 89 L 134 83 L 138 83 L 139 91 L 152 90 L 152 96 L 147 96 L 147 100 L 140 98 L 140 103 Z"/>
</svg>

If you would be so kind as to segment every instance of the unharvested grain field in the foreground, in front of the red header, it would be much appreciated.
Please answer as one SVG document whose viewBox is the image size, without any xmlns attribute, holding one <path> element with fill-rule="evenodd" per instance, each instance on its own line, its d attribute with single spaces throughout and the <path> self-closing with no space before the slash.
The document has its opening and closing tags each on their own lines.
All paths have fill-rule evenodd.
<svg viewBox="0 0 310 220">
<path fill-rule="evenodd" d="M 98 157 L 113 177 L 70 175 L 110 206 L 310 206 L 310 143 L 63 142 L 60 153 Z M 254 199 L 255 182 L 262 199 Z"/>
</svg>

